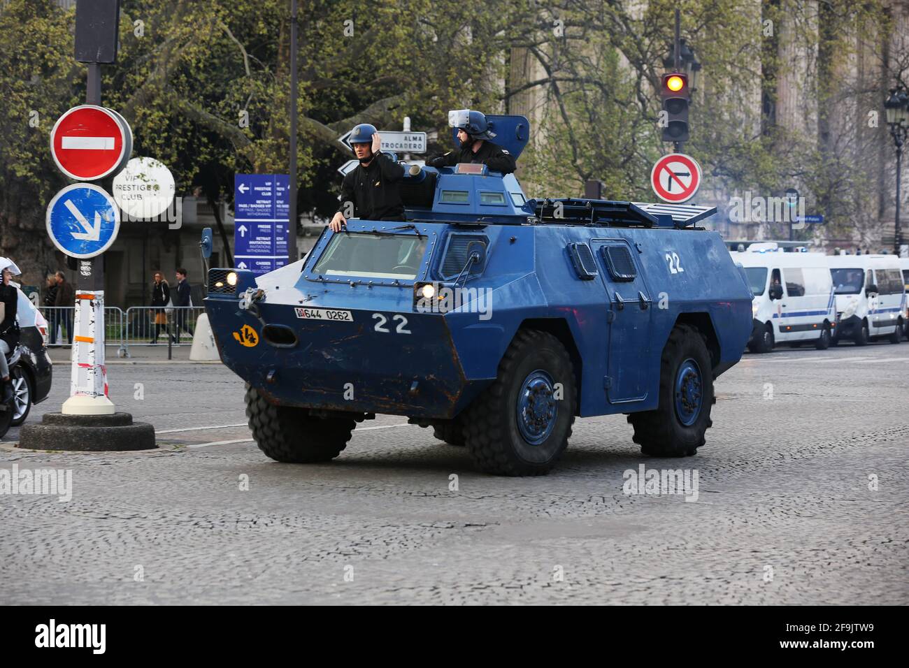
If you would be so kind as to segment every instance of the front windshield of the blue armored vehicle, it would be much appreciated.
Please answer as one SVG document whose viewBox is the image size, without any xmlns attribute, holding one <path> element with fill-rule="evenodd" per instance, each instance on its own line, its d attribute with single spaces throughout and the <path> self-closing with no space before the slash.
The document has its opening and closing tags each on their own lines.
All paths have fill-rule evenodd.
<svg viewBox="0 0 909 668">
<path fill-rule="evenodd" d="M 425 237 L 415 234 L 335 234 L 313 273 L 413 280 L 425 250 Z"/>
</svg>

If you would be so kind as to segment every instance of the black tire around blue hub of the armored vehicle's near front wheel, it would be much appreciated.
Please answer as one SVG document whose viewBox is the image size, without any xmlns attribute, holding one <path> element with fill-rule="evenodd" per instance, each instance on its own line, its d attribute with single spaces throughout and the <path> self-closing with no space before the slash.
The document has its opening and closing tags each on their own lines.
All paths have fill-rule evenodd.
<svg viewBox="0 0 909 668">
<path fill-rule="evenodd" d="M 556 399 L 552 432 L 533 445 L 518 428 L 517 399 L 536 370 L 561 384 L 563 394 Z M 494 383 L 464 411 L 464 442 L 474 465 L 496 475 L 548 473 L 568 445 L 576 404 L 574 367 L 564 345 L 553 334 L 519 330 L 499 363 Z"/>
</svg>

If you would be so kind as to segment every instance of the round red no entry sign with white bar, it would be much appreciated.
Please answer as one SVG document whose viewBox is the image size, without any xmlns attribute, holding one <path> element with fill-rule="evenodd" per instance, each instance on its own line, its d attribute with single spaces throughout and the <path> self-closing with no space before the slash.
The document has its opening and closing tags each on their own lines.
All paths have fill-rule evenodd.
<svg viewBox="0 0 909 668">
<path fill-rule="evenodd" d="M 51 130 L 54 162 L 77 181 L 95 181 L 120 169 L 132 144 L 123 116 L 103 106 L 74 106 Z"/>
</svg>

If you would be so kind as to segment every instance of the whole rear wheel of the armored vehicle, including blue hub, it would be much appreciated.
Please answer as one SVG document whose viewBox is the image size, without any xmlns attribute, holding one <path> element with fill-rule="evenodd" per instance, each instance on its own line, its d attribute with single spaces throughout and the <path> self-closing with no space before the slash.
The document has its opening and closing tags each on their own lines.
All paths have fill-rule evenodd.
<svg viewBox="0 0 909 668">
<path fill-rule="evenodd" d="M 714 374 L 704 337 L 687 324 L 669 334 L 660 362 L 660 404 L 628 415 L 634 443 L 654 457 L 684 457 L 704 445 L 713 422 Z"/>
</svg>

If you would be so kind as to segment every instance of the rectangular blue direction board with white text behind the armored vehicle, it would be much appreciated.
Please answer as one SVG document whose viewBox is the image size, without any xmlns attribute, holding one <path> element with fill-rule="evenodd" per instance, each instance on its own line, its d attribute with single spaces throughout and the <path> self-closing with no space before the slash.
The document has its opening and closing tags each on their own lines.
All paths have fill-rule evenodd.
<svg viewBox="0 0 909 668">
<path fill-rule="evenodd" d="M 266 274 L 287 264 L 287 174 L 235 174 L 234 264 Z"/>
</svg>

